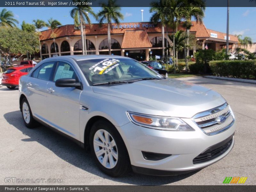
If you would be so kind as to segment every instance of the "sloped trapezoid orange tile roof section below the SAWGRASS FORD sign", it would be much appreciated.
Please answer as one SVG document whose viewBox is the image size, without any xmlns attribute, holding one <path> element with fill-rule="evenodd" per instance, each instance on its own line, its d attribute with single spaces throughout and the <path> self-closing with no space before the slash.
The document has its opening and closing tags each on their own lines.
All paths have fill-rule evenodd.
<svg viewBox="0 0 256 192">
<path fill-rule="evenodd" d="M 132 39 L 132 41 L 131 41 Z M 136 43 L 134 43 L 136 42 Z M 121 48 L 152 47 L 145 30 L 126 30 Z"/>
</svg>

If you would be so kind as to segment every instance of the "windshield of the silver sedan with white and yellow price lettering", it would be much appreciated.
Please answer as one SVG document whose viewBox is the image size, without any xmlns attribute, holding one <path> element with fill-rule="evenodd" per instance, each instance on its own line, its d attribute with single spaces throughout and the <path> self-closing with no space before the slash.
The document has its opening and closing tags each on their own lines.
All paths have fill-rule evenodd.
<svg viewBox="0 0 256 192">
<path fill-rule="evenodd" d="M 90 85 L 122 84 L 163 77 L 129 58 L 101 58 L 77 61 Z"/>
</svg>

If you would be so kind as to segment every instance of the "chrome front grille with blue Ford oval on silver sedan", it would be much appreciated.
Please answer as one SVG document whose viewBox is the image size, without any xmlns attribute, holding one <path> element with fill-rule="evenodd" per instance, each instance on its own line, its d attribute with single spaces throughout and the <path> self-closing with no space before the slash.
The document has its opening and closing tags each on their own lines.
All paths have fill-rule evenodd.
<svg viewBox="0 0 256 192">
<path fill-rule="evenodd" d="M 207 135 L 215 135 L 223 132 L 235 122 L 227 103 L 217 108 L 198 113 L 193 117 L 193 120 Z"/>
</svg>

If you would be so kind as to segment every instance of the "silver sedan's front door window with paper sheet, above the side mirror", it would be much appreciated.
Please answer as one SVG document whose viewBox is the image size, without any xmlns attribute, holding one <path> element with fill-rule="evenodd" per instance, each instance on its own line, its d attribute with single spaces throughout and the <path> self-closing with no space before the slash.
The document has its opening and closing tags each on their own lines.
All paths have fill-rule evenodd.
<svg viewBox="0 0 256 192">
<path fill-rule="evenodd" d="M 58 62 L 58 66 L 55 70 L 53 81 L 55 82 L 56 80 L 62 78 L 72 78 L 78 80 L 73 67 L 66 62 L 60 61 Z"/>
</svg>

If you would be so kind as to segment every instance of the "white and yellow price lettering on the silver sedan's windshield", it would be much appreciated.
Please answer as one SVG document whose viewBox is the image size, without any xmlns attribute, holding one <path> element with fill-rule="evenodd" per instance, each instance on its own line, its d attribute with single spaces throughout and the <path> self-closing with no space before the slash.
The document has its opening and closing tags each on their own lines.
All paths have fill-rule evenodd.
<svg viewBox="0 0 256 192">
<path fill-rule="evenodd" d="M 116 66 L 118 66 L 119 64 L 117 64 L 117 62 L 120 62 L 120 61 L 117 59 L 111 59 L 111 60 L 104 59 L 104 60 L 98 62 L 97 64 L 93 65 L 92 67 L 90 67 L 89 70 L 93 69 L 93 72 L 99 71 L 99 74 L 101 75 L 103 72 L 108 73 L 108 71 L 110 71 L 113 68 L 115 68 Z M 115 65 L 115 64 L 117 64 L 117 65 Z M 112 66 L 112 67 L 109 68 L 110 66 Z M 106 70 L 107 68 L 108 68 L 108 70 Z"/>
</svg>

